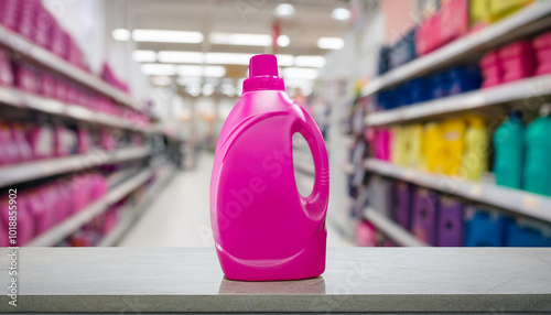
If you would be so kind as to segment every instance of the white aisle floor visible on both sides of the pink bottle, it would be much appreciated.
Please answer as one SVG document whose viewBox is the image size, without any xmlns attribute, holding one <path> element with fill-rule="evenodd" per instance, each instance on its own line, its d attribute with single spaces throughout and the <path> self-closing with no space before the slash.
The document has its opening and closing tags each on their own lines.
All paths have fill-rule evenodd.
<svg viewBox="0 0 551 315">
<path fill-rule="evenodd" d="M 208 189 L 214 155 L 203 153 L 197 167 L 179 172 L 138 224 L 122 239 L 123 247 L 214 247 Z M 349 247 L 327 225 L 327 247 Z"/>
</svg>

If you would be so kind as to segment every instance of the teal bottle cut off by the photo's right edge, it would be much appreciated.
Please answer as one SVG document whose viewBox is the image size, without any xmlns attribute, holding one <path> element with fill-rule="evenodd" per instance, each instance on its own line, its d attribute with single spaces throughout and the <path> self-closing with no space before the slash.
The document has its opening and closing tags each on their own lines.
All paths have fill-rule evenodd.
<svg viewBox="0 0 551 315">
<path fill-rule="evenodd" d="M 527 128 L 523 188 L 551 196 L 551 105 L 541 107 L 540 117 Z"/>
</svg>

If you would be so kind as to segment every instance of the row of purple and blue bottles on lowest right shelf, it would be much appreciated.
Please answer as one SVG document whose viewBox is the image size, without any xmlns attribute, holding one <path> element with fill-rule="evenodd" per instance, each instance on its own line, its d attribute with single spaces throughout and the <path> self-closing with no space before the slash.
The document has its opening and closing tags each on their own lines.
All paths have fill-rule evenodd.
<svg viewBox="0 0 551 315">
<path fill-rule="evenodd" d="M 381 213 L 431 246 L 551 246 L 549 224 L 511 217 L 490 207 L 379 176 L 372 176 L 361 189 L 359 194 L 367 194 L 365 200 L 368 200 L 363 208 Z M 376 228 L 371 225 L 370 230 Z"/>
</svg>

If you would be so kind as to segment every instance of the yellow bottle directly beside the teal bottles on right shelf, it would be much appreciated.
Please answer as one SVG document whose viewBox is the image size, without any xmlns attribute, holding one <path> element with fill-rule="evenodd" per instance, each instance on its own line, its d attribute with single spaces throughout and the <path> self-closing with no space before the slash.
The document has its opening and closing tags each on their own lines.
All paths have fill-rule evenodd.
<svg viewBox="0 0 551 315">
<path fill-rule="evenodd" d="M 466 115 L 465 152 L 461 163 L 461 176 L 478 181 L 488 171 L 488 126 L 486 119 L 477 115 Z"/>
</svg>

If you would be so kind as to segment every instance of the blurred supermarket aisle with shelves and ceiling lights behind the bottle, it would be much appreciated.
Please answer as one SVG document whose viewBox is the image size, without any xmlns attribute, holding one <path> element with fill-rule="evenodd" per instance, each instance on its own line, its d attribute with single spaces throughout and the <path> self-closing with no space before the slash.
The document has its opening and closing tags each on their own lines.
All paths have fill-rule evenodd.
<svg viewBox="0 0 551 315">
<path fill-rule="evenodd" d="M 213 247 L 256 54 L 325 138 L 328 247 L 551 246 L 545 0 L 0 0 L 0 246 Z"/>
</svg>

